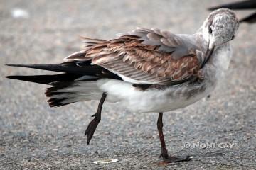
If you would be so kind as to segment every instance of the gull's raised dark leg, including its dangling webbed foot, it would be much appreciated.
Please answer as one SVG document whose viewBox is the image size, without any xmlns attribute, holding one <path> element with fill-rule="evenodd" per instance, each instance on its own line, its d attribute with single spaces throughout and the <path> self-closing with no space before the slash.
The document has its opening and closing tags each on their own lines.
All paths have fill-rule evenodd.
<svg viewBox="0 0 256 170">
<path fill-rule="evenodd" d="M 107 94 L 103 93 L 102 97 L 100 98 L 100 103 L 98 105 L 97 112 L 94 115 L 92 115 L 92 117 L 95 117 L 95 118 L 92 119 L 87 129 L 85 130 L 85 135 L 87 135 L 87 145 L 89 145 L 90 140 L 92 139 L 92 136 L 97 128 L 97 125 L 100 123 L 102 105 L 106 97 L 107 97 Z"/>
</svg>

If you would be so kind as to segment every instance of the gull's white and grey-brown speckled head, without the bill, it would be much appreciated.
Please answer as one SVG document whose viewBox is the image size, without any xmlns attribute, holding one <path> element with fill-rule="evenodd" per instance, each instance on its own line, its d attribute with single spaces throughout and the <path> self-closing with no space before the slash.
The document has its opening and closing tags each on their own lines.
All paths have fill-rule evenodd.
<svg viewBox="0 0 256 170">
<path fill-rule="evenodd" d="M 220 8 L 210 13 L 203 23 L 203 37 L 208 40 L 208 48 L 233 40 L 238 26 L 238 18 L 230 9 Z"/>
</svg>

